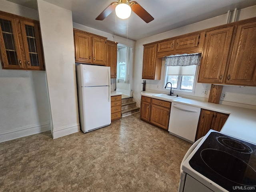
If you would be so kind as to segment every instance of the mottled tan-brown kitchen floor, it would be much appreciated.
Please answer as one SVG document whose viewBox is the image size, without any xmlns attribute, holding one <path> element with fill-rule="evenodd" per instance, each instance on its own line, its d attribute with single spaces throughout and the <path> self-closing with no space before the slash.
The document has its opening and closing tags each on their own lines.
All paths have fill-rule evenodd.
<svg viewBox="0 0 256 192">
<path fill-rule="evenodd" d="M 139 113 L 86 134 L 43 132 L 0 143 L 0 192 L 177 192 L 190 146 Z"/>
</svg>

